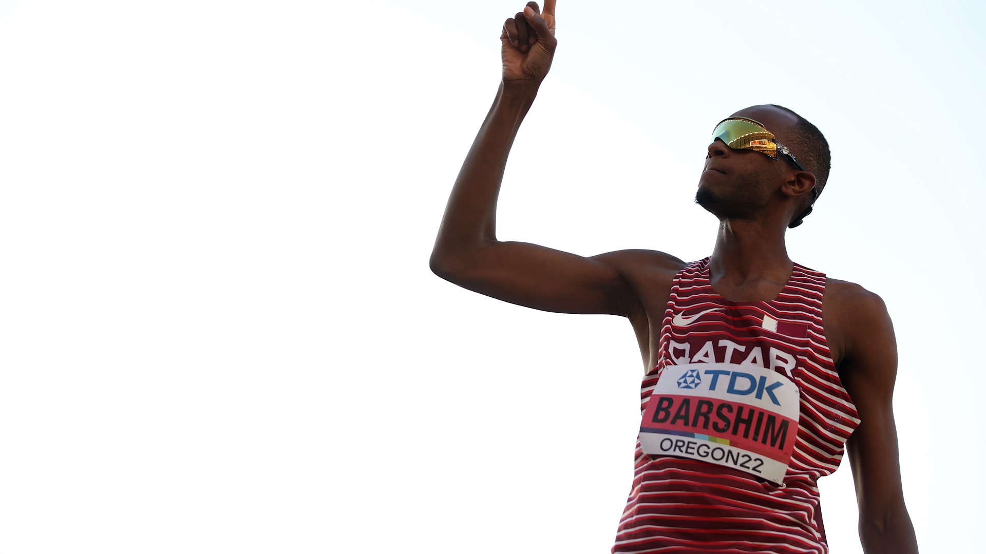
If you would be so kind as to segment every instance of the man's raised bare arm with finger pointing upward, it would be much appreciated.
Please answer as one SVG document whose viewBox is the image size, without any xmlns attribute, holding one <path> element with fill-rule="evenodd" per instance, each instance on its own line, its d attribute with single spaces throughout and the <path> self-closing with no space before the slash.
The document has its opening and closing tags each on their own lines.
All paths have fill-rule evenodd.
<svg viewBox="0 0 986 554">
<path fill-rule="evenodd" d="M 626 315 L 638 305 L 620 252 L 583 257 L 496 239 L 496 205 L 511 146 L 551 67 L 554 0 L 529 2 L 500 35 L 503 80 L 449 197 L 432 270 L 461 287 L 549 312 Z M 638 254 L 639 256 L 639 254 Z"/>
</svg>

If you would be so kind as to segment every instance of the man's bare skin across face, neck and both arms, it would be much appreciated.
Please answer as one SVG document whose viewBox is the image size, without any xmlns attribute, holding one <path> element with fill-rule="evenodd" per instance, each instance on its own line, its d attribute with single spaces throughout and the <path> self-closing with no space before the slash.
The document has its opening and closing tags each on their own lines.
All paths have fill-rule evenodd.
<svg viewBox="0 0 986 554">
<path fill-rule="evenodd" d="M 584 257 L 496 239 L 497 196 L 507 157 L 557 45 L 554 13 L 555 0 L 547 0 L 543 12 L 529 2 L 504 24 L 502 81 L 458 173 L 431 268 L 461 287 L 520 306 L 627 317 L 646 371 L 658 363 L 671 281 L 685 262 L 657 250 Z M 796 118 L 787 111 L 757 105 L 734 115 L 762 122 L 783 144 L 793 142 Z M 810 202 L 814 175 L 721 141 L 709 145 L 703 170 L 698 197 L 720 219 L 710 262 L 712 286 L 731 301 L 773 300 L 794 267 L 784 235 Z M 917 552 L 893 422 L 897 354 L 890 317 L 879 296 L 835 279 L 826 282 L 822 307 L 832 358 L 862 420 L 846 446 L 863 549 L 868 554 Z"/>
</svg>

